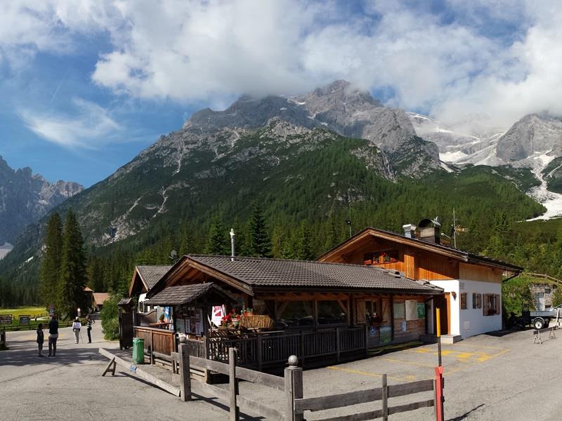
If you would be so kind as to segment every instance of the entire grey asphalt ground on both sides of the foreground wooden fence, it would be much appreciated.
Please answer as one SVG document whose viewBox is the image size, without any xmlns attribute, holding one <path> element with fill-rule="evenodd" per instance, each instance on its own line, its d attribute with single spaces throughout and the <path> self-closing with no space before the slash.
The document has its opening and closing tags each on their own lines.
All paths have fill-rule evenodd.
<svg viewBox="0 0 562 421">
<path fill-rule="evenodd" d="M 107 359 L 97 354 L 98 347 L 118 345 L 101 339 L 99 323 L 94 327 L 91 345 L 75 345 L 70 328 L 61 329 L 55 359 L 37 357 L 34 332 L 8 332 L 11 350 L 0 352 L 0 420 L 228 418 L 212 396 L 183 403 L 119 366 L 115 377 L 101 377 Z M 537 345 L 532 343 L 532 331 L 527 330 L 500 337 L 478 335 L 444 345 L 445 420 L 562 420 L 562 330 L 559 336 Z M 390 384 L 429 379 L 436 364 L 436 345 L 423 345 L 305 370 L 304 396 L 380 387 L 382 373 L 388 375 Z M 281 409 L 284 405 L 281 392 L 249 382 L 240 383 L 240 393 L 269 406 Z M 426 399 L 431 399 L 431 392 L 391 399 L 390 405 Z M 306 419 L 379 407 L 377 402 L 307 413 Z M 390 418 L 417 421 L 433 420 L 434 416 L 433 409 L 424 408 Z"/>
</svg>

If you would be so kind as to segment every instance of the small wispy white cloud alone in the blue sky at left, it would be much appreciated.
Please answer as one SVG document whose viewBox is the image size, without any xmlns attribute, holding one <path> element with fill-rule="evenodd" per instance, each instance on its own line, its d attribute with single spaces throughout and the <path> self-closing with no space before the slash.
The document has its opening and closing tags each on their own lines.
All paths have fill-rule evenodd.
<svg viewBox="0 0 562 421">
<path fill-rule="evenodd" d="M 76 114 L 60 116 L 25 109 L 20 112 L 26 126 L 34 133 L 63 147 L 89 148 L 115 140 L 121 127 L 107 110 L 93 102 L 74 98 Z"/>
</svg>

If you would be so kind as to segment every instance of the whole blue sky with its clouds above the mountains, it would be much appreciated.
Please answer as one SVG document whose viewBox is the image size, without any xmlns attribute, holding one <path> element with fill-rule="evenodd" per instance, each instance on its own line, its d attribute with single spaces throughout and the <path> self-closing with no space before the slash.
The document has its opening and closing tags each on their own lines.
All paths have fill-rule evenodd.
<svg viewBox="0 0 562 421">
<path fill-rule="evenodd" d="M 0 155 L 89 186 L 197 109 L 334 79 L 509 128 L 562 114 L 561 18 L 558 1 L 9 1 Z"/>
</svg>

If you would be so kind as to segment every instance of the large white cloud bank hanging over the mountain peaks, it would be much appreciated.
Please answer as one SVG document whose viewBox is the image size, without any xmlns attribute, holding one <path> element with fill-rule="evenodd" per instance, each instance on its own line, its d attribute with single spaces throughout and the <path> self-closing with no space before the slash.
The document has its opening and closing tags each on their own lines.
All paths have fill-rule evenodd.
<svg viewBox="0 0 562 421">
<path fill-rule="evenodd" d="M 91 80 L 133 98 L 216 104 L 344 78 L 390 87 L 390 105 L 448 121 L 488 114 L 505 127 L 529 112 L 562 115 L 559 1 L 447 0 L 454 18 L 406 1 L 366 1 L 362 15 L 344 1 L 7 4 L 0 57 L 16 65 L 36 51 L 72 52 L 76 34 L 108 34 Z"/>
</svg>

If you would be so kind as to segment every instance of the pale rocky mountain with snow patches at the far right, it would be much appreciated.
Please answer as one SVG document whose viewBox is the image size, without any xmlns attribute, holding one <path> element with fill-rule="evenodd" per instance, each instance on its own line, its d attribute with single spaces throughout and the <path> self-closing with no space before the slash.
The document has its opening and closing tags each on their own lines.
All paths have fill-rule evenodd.
<svg viewBox="0 0 562 421">
<path fill-rule="evenodd" d="M 535 182 L 528 194 L 547 207 L 540 219 L 562 215 L 562 119 L 528 114 L 503 133 L 493 126 L 447 125 L 428 116 L 410 113 L 417 135 L 435 142 L 440 159 L 455 165 L 528 168 Z"/>
</svg>

